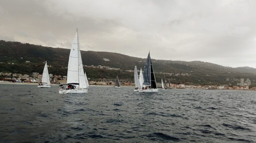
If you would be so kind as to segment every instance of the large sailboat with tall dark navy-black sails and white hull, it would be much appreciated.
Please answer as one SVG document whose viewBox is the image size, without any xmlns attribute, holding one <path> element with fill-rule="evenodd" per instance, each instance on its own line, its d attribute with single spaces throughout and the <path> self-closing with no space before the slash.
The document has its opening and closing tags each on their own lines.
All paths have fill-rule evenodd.
<svg viewBox="0 0 256 143">
<path fill-rule="evenodd" d="M 139 90 L 139 92 L 158 92 L 158 89 L 156 86 L 155 73 L 154 73 L 153 65 L 150 58 L 150 52 L 148 53 L 148 57 L 145 63 L 143 79 L 144 79 L 143 87 L 142 89 Z M 146 86 L 148 86 L 149 88 L 147 88 Z"/>
</svg>

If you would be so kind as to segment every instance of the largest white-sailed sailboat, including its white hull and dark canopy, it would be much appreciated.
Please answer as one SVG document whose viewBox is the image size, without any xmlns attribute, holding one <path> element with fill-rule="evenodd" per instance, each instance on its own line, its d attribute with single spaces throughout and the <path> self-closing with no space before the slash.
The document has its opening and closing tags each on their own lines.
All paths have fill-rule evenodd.
<svg viewBox="0 0 256 143">
<path fill-rule="evenodd" d="M 59 86 L 60 94 L 88 92 L 77 29 L 69 54 L 67 84 L 62 84 Z"/>
</svg>

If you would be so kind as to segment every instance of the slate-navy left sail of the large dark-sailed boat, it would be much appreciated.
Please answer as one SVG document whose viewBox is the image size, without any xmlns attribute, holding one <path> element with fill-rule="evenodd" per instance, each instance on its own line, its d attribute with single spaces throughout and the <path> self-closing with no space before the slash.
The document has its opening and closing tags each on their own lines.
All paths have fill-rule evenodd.
<svg viewBox="0 0 256 143">
<path fill-rule="evenodd" d="M 144 67 L 144 73 L 143 73 L 143 78 L 144 78 L 144 82 L 143 82 L 143 85 L 151 85 L 151 70 L 150 70 L 150 63 L 151 60 L 150 60 L 150 53 L 148 53 L 148 58 L 146 60 L 146 63 L 145 63 L 145 67 Z"/>
</svg>

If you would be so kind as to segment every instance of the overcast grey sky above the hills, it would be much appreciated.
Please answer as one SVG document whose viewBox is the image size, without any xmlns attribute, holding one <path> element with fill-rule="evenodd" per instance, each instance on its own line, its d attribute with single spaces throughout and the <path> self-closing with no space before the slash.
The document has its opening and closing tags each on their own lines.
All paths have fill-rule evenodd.
<svg viewBox="0 0 256 143">
<path fill-rule="evenodd" d="M 256 68 L 255 0 L 1 0 L 0 40 Z"/>
</svg>

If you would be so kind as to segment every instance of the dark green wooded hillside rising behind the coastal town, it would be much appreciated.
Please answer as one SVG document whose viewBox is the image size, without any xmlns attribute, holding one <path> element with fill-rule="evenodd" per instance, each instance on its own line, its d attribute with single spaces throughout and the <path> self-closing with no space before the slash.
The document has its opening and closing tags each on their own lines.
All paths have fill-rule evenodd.
<svg viewBox="0 0 256 143">
<path fill-rule="evenodd" d="M 43 62 L 47 60 L 49 73 L 56 75 L 66 75 L 68 66 L 68 57 L 70 49 L 43 47 L 40 45 L 23 44 L 20 42 L 0 41 L 0 72 L 12 72 L 31 74 L 32 72 L 41 73 L 44 67 Z M 131 57 L 119 53 L 81 51 L 84 65 L 102 65 L 120 70 L 106 70 L 99 68 L 85 67 L 89 78 L 112 78 L 118 74 L 122 79 L 133 79 L 133 70 L 144 67 L 145 59 Z M 145 58 L 147 53 L 145 53 Z M 105 61 L 103 58 L 109 59 Z M 153 58 L 153 57 L 152 57 Z M 30 61 L 30 63 L 26 63 Z M 152 59 L 154 71 L 157 72 L 156 80 L 161 81 L 162 73 L 174 73 L 166 75 L 172 83 L 193 83 L 193 84 L 232 84 L 239 83 L 240 78 L 250 78 L 253 85 L 256 80 L 256 69 L 250 67 L 224 67 L 221 65 L 201 62 L 201 61 L 171 61 Z M 8 64 L 14 63 L 14 64 Z M 175 74 L 184 74 L 176 75 Z"/>
</svg>

